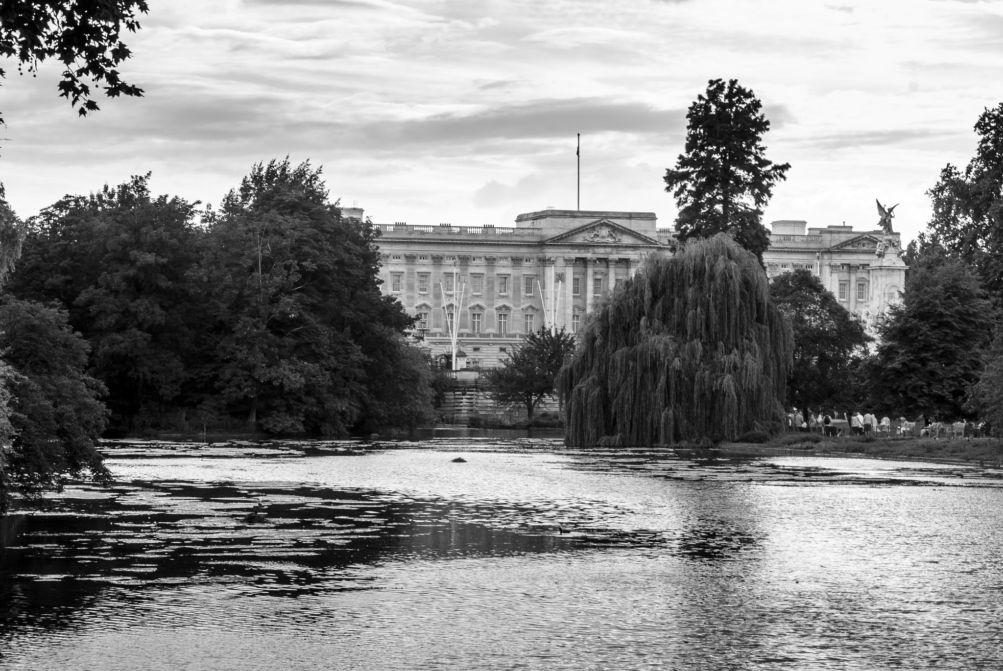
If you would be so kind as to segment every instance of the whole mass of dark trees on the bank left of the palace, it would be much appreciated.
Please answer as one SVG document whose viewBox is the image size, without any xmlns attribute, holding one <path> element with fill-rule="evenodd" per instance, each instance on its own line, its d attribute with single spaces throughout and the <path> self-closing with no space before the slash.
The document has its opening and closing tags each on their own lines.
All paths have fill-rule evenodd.
<svg viewBox="0 0 1003 671">
<path fill-rule="evenodd" d="M 341 217 L 319 171 L 259 163 L 199 214 L 133 178 L 29 222 L 8 290 L 68 310 L 115 428 L 344 434 L 432 416 L 412 318 L 379 291 L 378 232 Z"/>
</svg>

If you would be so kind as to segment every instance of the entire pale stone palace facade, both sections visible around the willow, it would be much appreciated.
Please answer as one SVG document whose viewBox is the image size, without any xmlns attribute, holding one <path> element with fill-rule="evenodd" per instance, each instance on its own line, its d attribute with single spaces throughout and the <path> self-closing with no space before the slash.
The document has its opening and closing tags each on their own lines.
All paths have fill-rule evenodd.
<svg viewBox="0 0 1003 671">
<path fill-rule="evenodd" d="M 343 215 L 362 218 L 361 209 Z M 513 227 L 379 224 L 384 294 L 418 318 L 416 332 L 443 365 L 494 367 L 541 327 L 577 332 L 595 301 L 633 277 L 652 254 L 671 254 L 670 229 L 653 213 L 544 210 Z M 906 265 L 899 234 L 853 227 L 771 225 L 763 262 L 769 277 L 796 268 L 822 284 L 873 331 L 899 300 Z"/>
</svg>

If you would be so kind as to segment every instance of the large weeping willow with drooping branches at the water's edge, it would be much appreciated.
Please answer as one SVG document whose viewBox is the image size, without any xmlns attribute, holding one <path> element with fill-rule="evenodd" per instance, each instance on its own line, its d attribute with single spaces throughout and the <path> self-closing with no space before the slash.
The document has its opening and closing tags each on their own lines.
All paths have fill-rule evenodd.
<svg viewBox="0 0 1003 671">
<path fill-rule="evenodd" d="M 651 258 L 596 309 L 561 371 L 568 443 L 779 428 L 793 346 L 758 261 L 727 235 Z"/>
</svg>

